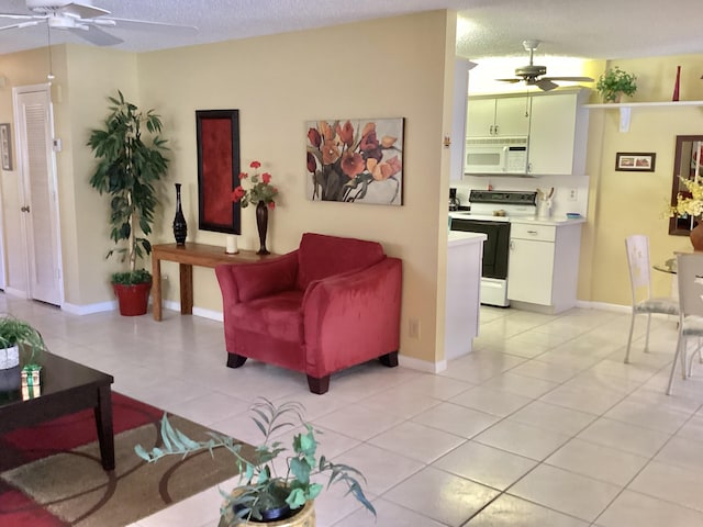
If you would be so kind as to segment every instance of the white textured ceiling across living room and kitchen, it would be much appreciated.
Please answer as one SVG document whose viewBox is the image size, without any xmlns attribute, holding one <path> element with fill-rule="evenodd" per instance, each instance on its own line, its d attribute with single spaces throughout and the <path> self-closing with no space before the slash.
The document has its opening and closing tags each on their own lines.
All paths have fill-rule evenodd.
<svg viewBox="0 0 703 527">
<path fill-rule="evenodd" d="M 104 29 L 124 41 L 113 47 L 133 52 L 454 9 L 460 16 L 458 53 L 469 58 L 524 55 L 526 38 L 543 41 L 540 54 L 584 58 L 703 53 L 700 0 L 93 0 L 92 4 L 115 18 L 198 26 L 194 31 L 125 23 Z M 0 12 L 30 14 L 25 0 L 0 0 Z M 15 22 L 0 19 L 0 26 Z M 65 30 L 52 30 L 51 38 L 56 44 L 88 44 Z M 46 43 L 45 24 L 0 31 L 0 54 Z"/>
</svg>

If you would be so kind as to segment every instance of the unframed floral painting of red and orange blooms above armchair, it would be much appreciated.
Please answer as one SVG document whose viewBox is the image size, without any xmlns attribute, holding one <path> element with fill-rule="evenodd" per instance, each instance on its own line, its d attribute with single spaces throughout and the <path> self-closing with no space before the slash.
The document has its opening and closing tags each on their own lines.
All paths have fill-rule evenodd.
<svg viewBox="0 0 703 527">
<path fill-rule="evenodd" d="M 309 121 L 308 199 L 403 204 L 404 119 Z"/>
</svg>

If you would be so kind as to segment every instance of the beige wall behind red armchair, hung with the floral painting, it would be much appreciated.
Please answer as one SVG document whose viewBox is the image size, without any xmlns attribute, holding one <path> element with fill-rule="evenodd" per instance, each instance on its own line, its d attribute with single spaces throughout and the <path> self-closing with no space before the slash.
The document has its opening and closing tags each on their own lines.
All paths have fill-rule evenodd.
<svg viewBox="0 0 703 527">
<path fill-rule="evenodd" d="M 455 20 L 437 11 L 140 55 L 142 101 L 165 117 L 172 149 L 170 181 L 183 186 L 189 239 L 224 246 L 224 235 L 197 229 L 194 111 L 238 109 L 243 167 L 260 160 L 280 191 L 269 216 L 269 249 L 292 250 L 305 232 L 381 242 L 387 253 L 403 259 L 402 354 L 429 361 L 442 358 L 435 341 L 437 333 L 442 339 L 444 334 L 436 327 L 435 313 L 437 282 L 444 280 L 444 272 L 438 272 L 437 223 L 439 217 L 446 221 L 445 200 L 439 199 L 448 186 L 442 134 L 450 128 L 444 123 L 443 101 Z M 305 121 L 401 116 L 403 206 L 305 199 Z M 155 243 L 172 242 L 172 194 L 171 187 Z M 243 210 L 242 229 L 239 246 L 258 248 L 252 208 Z M 177 278 L 175 265 L 165 264 L 164 270 L 169 281 Z M 212 271 L 197 270 L 194 281 L 196 305 L 221 311 Z M 169 298 L 177 300 L 177 288 Z M 420 339 L 406 338 L 409 317 L 420 319 Z"/>
</svg>

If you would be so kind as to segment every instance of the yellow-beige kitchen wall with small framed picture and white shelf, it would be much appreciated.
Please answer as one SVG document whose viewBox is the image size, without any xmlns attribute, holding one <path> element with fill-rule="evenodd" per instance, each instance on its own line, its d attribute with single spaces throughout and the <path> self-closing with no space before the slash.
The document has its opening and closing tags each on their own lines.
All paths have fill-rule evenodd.
<svg viewBox="0 0 703 527">
<path fill-rule="evenodd" d="M 681 100 L 703 101 L 701 55 L 612 60 L 638 77 L 634 102 L 671 101 L 677 66 L 681 66 Z M 600 102 L 594 94 L 592 102 Z M 673 250 L 690 249 L 687 237 L 669 236 L 663 214 L 671 195 L 677 135 L 703 134 L 703 111 L 696 106 L 633 108 L 629 132 L 620 132 L 620 112 L 591 110 L 588 173 L 591 176 L 589 222 L 584 227 L 579 299 L 628 305 L 629 279 L 624 238 L 646 234 L 652 261 Z M 618 152 L 657 154 L 655 172 L 615 171 Z M 654 271 L 657 294 L 669 294 L 669 276 Z"/>
</svg>

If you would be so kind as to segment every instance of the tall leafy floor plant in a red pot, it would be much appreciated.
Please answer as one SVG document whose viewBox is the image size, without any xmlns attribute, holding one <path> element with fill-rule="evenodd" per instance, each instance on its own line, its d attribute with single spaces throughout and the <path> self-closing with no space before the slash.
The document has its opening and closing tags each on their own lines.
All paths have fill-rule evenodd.
<svg viewBox="0 0 703 527">
<path fill-rule="evenodd" d="M 110 115 L 104 126 L 93 130 L 88 146 L 99 159 L 90 186 L 100 194 L 110 195 L 110 238 L 124 245 L 108 251 L 107 257 L 118 254 L 129 261 L 129 271 L 112 276 L 111 282 L 122 315 L 146 313 L 152 274 L 137 269 L 137 259 L 152 251 L 146 236 L 152 233 L 154 213 L 158 204 L 155 183 L 165 175 L 168 159 L 164 157 L 166 139 L 161 132 L 161 120 L 154 110 L 142 112 L 124 100 L 110 97 Z M 146 125 L 150 141 L 143 136 Z M 141 233 L 141 234 L 140 234 Z"/>
</svg>

